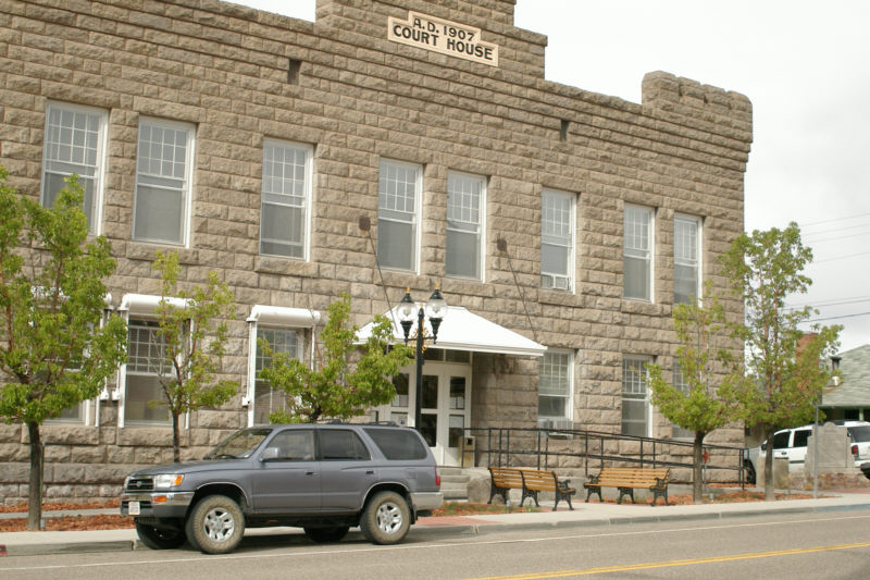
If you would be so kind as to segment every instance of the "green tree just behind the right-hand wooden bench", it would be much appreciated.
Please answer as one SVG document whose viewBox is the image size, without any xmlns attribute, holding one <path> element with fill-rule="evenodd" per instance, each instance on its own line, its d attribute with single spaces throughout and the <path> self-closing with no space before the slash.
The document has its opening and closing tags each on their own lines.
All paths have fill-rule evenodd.
<svg viewBox="0 0 870 580">
<path fill-rule="evenodd" d="M 668 383 L 658 365 L 648 365 L 651 402 L 672 423 L 695 432 L 693 489 L 695 502 L 704 494 L 704 437 L 736 419 L 735 388 L 744 381 L 741 360 L 733 351 L 721 303 L 705 285 L 700 304 L 673 308 L 673 326 L 680 346 L 676 362 L 687 385 Z M 729 347 L 732 347 L 730 350 Z"/>
</svg>

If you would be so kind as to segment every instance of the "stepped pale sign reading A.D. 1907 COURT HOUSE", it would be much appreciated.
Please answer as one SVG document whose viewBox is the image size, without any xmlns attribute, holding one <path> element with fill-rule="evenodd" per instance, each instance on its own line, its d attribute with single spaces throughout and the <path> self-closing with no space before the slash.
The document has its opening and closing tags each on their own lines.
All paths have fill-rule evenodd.
<svg viewBox="0 0 870 580">
<path fill-rule="evenodd" d="M 484 42 L 480 28 L 419 12 L 408 12 L 408 21 L 389 16 L 387 38 L 394 42 L 498 66 L 498 45 Z"/>
</svg>

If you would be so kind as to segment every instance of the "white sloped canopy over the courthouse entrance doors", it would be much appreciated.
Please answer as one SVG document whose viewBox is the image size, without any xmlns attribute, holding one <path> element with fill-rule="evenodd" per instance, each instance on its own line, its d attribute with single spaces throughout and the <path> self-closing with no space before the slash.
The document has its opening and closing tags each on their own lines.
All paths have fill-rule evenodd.
<svg viewBox="0 0 870 580">
<path fill-rule="evenodd" d="M 401 329 L 398 312 L 399 307 L 387 311 L 385 316 L 393 322 L 393 338 L 400 343 L 405 341 L 405 331 Z M 425 321 L 426 335 L 432 335 L 428 319 Z M 417 329 L 417 314 L 414 314 L 411 335 Z M 360 329 L 359 340 L 365 341 L 372 333 L 372 323 Z M 434 348 L 450 350 L 469 350 L 472 353 L 496 353 L 501 355 L 542 357 L 547 350 L 546 346 L 526 338 L 522 334 L 490 322 L 483 317 L 469 312 L 461 306 L 448 306 L 447 316 L 444 317 L 438 328 L 438 342 L 430 345 Z"/>
</svg>

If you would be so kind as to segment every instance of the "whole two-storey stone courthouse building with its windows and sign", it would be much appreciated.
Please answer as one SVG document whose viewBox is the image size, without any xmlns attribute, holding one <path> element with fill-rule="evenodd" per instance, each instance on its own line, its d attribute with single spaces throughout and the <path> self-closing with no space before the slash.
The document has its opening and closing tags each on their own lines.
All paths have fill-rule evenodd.
<svg viewBox="0 0 870 580">
<path fill-rule="evenodd" d="M 362 328 L 406 287 L 450 305 L 421 400 L 442 464 L 470 428 L 685 436 L 643 365 L 679 380 L 672 306 L 724 283 L 750 102 L 663 72 L 641 103 L 548 82 L 547 38 L 514 4 L 318 0 L 312 23 L 219 0 L 0 2 L 0 164 L 45 205 L 82 176 L 119 263 L 107 316 L 129 323 L 116 380 L 44 429 L 49 495 L 114 495 L 172 458 L 149 405 L 158 250 L 237 300 L 239 392 L 186 417 L 185 457 L 282 405 L 257 337 L 309 361 L 341 293 Z M 412 424 L 414 382 L 373 417 Z M 26 429 L 0 425 L 4 499 L 26 469 Z"/>
</svg>

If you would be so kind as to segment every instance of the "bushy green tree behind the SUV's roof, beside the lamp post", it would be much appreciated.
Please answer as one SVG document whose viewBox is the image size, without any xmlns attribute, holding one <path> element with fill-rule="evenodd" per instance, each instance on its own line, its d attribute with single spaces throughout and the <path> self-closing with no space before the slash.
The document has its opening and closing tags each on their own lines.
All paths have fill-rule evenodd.
<svg viewBox="0 0 870 580">
<path fill-rule="evenodd" d="M 389 320 L 375 317 L 371 336 L 359 345 L 359 329 L 348 323 L 350 297 L 347 294 L 328 306 L 327 314 L 314 368 L 284 353 L 275 353 L 268 342 L 260 341 L 265 356 L 272 358 L 272 365 L 260 371 L 260 378 L 269 381 L 273 388 L 283 390 L 288 397 L 285 410 L 269 416 L 273 423 L 349 419 L 362 415 L 369 407 L 389 403 L 396 396 L 390 377 L 411 360 L 412 350 L 402 344 L 389 346 L 393 338 Z"/>
</svg>

